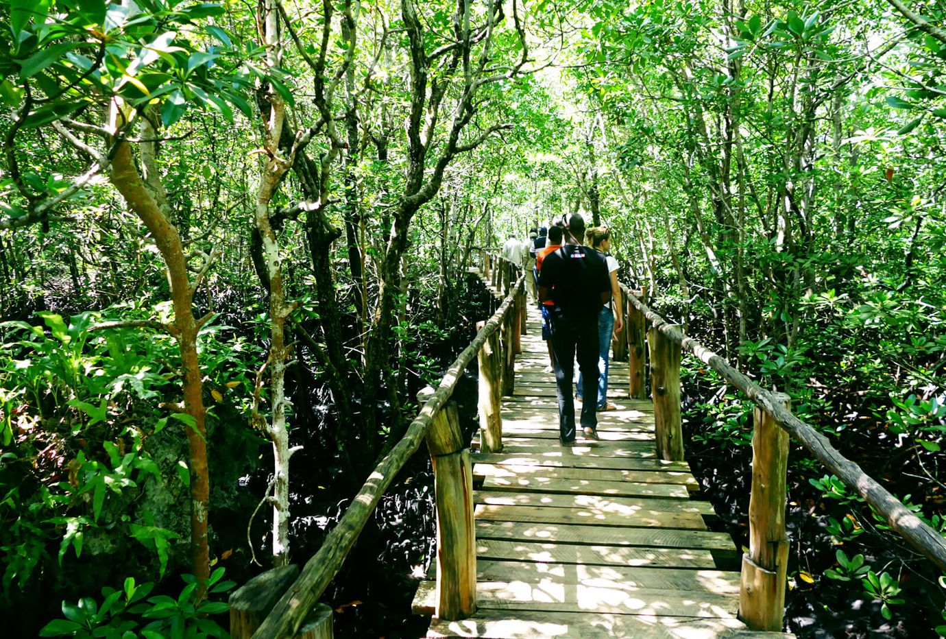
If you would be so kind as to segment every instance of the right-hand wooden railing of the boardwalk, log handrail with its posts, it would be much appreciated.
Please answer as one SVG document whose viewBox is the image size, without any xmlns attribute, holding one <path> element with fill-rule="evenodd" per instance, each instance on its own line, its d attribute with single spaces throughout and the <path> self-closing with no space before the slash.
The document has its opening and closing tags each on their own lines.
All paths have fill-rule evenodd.
<svg viewBox="0 0 946 639">
<path fill-rule="evenodd" d="M 725 359 L 651 311 L 646 294 L 622 285 L 626 300 L 626 344 L 632 398 L 644 397 L 642 335 L 645 324 L 650 355 L 657 450 L 666 460 L 683 458 L 680 427 L 679 363 L 681 350 L 720 373 L 756 404 L 752 436 L 752 488 L 749 498 L 749 552 L 743 556 L 740 618 L 752 630 L 781 630 L 788 559 L 785 489 L 788 437 L 791 435 L 887 524 L 938 568 L 946 570 L 946 540 L 867 475 L 838 453 L 827 437 L 795 417 L 789 397 L 766 391 Z"/>
</svg>

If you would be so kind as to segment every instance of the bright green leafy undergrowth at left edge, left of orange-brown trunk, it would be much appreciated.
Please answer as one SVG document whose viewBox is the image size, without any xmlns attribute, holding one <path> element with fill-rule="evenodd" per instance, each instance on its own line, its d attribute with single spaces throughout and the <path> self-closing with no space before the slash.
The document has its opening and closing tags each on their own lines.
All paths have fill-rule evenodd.
<svg viewBox="0 0 946 639">
<path fill-rule="evenodd" d="M 168 344 L 128 329 L 93 331 L 92 313 L 68 323 L 40 316 L 45 328 L 2 327 L 21 336 L 0 358 L 7 407 L 0 512 L 11 523 L 0 545 L 4 591 L 25 589 L 51 548 L 60 565 L 70 549 L 79 559 L 90 532 L 141 541 L 164 574 L 168 541 L 178 535 L 155 526 L 147 510 L 142 523 L 125 511 L 149 483 L 165 482 L 146 442 L 167 418 L 157 418 L 151 402 L 167 385 Z M 41 451 L 54 461 L 31 462 Z"/>
</svg>

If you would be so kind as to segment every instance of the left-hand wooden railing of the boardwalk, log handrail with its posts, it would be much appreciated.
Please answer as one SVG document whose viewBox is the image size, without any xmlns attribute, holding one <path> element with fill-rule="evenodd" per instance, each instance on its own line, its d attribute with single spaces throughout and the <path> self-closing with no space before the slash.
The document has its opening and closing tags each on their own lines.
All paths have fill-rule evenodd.
<svg viewBox="0 0 946 639">
<path fill-rule="evenodd" d="M 499 396 L 512 393 L 515 353 L 525 326 L 524 276 L 515 265 L 481 251 L 481 273 L 497 284 L 504 299 L 476 337 L 449 367 L 436 390 L 418 394 L 423 407 L 404 437 L 385 455 L 359 489 L 339 524 L 301 573 L 295 566 L 254 577 L 230 598 L 231 634 L 240 639 L 332 636 L 331 608 L 319 604 L 338 574 L 364 524 L 394 476 L 427 441 L 433 460 L 437 502 L 437 616 L 462 619 L 476 607 L 476 545 L 473 533 L 473 486 L 470 453 L 450 396 L 474 358 L 480 365 L 481 440 L 490 450 L 502 447 Z M 485 392 L 484 392 L 485 391 Z M 296 577 L 298 575 L 298 577 Z"/>
</svg>

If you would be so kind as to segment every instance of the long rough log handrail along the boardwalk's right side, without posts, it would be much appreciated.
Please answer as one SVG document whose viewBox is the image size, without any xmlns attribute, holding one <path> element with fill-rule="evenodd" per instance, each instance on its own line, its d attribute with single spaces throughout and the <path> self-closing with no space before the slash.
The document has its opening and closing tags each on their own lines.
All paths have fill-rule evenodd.
<svg viewBox="0 0 946 639">
<path fill-rule="evenodd" d="M 656 312 L 651 311 L 636 294 L 622 285 L 622 289 L 651 325 L 667 338 L 673 340 L 700 361 L 709 365 L 722 375 L 727 382 L 745 393 L 746 397 L 762 408 L 789 435 L 792 435 L 808 451 L 815 455 L 828 470 L 831 470 L 848 488 L 857 492 L 868 505 L 876 509 L 885 518 L 887 524 L 896 530 L 914 548 L 927 559 L 933 561 L 940 570 L 946 570 L 946 540 L 936 530 L 924 524 L 917 515 L 903 506 L 886 488 L 881 486 L 860 466 L 845 458 L 835 449 L 828 438 L 818 433 L 814 427 L 805 423 L 784 407 L 783 401 L 759 384 L 752 382 L 729 363 L 703 346 L 692 337 L 687 337 Z"/>
</svg>

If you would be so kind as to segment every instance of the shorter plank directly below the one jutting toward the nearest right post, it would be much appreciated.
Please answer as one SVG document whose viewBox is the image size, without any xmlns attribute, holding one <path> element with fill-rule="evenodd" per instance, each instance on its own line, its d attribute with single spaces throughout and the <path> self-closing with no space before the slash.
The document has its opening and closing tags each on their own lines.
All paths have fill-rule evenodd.
<svg viewBox="0 0 946 639">
<path fill-rule="evenodd" d="M 716 567 L 709 550 L 581 546 L 571 543 L 536 543 L 534 541 L 477 540 L 477 557 L 606 566 Z"/>
</svg>

